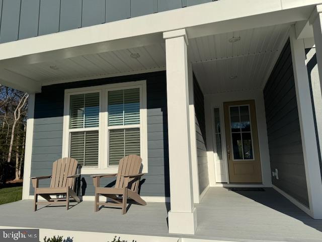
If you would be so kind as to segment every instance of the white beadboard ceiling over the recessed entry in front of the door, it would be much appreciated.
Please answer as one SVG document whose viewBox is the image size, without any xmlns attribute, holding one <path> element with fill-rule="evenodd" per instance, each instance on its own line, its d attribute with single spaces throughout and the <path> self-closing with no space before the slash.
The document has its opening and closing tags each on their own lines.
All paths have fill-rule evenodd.
<svg viewBox="0 0 322 242">
<path fill-rule="evenodd" d="M 289 27 L 275 25 L 190 39 L 189 57 L 204 93 L 263 88 Z M 240 41 L 230 43 L 232 37 Z"/>
</svg>

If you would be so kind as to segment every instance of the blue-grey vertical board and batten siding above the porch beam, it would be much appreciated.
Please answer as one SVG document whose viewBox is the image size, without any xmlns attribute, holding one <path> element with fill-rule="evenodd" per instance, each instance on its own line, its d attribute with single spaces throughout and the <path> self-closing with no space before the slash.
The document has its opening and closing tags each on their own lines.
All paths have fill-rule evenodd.
<svg viewBox="0 0 322 242">
<path fill-rule="evenodd" d="M 0 0 L 0 43 L 218 0 Z"/>
</svg>

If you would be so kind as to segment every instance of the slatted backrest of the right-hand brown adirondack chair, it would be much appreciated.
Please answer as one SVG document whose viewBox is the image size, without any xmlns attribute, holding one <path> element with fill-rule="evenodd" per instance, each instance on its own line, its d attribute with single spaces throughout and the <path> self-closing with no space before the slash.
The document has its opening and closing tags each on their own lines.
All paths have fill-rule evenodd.
<svg viewBox="0 0 322 242">
<path fill-rule="evenodd" d="M 119 170 L 117 172 L 115 188 L 124 188 L 124 177 L 122 175 L 138 174 L 140 171 L 141 163 L 142 159 L 138 155 L 128 155 L 123 157 L 119 163 Z M 137 192 L 140 180 L 133 180 L 134 178 L 129 179 L 128 189 Z"/>
</svg>

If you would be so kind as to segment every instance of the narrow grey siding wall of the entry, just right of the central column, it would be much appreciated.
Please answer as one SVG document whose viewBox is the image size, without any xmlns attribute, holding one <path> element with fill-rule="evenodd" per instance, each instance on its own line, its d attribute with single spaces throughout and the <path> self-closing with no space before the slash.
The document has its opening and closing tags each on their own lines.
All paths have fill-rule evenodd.
<svg viewBox="0 0 322 242">
<path fill-rule="evenodd" d="M 196 122 L 199 192 L 201 194 L 209 185 L 209 178 L 208 178 L 208 161 L 207 161 L 207 149 L 206 149 L 207 145 L 206 145 L 204 96 L 195 75 L 193 76 L 193 90 L 194 90 L 194 106 L 195 106 L 195 122 Z"/>
</svg>

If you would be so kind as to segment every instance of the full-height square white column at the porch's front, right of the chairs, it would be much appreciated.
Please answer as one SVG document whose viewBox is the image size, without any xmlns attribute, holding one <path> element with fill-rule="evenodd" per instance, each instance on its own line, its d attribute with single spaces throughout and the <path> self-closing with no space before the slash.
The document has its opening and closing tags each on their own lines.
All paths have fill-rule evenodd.
<svg viewBox="0 0 322 242">
<path fill-rule="evenodd" d="M 188 88 L 188 38 L 185 29 L 164 33 L 167 61 L 167 102 L 171 210 L 169 232 L 194 234 Z"/>
</svg>

